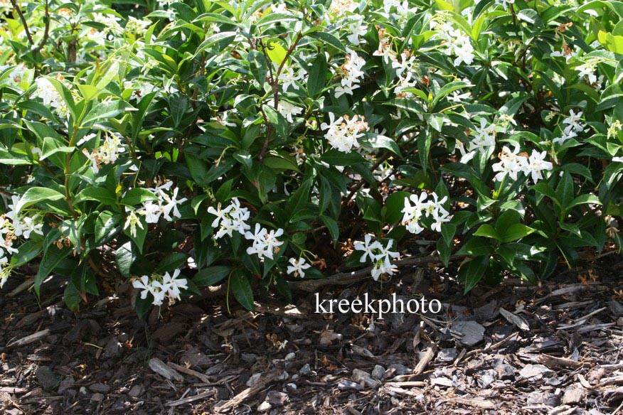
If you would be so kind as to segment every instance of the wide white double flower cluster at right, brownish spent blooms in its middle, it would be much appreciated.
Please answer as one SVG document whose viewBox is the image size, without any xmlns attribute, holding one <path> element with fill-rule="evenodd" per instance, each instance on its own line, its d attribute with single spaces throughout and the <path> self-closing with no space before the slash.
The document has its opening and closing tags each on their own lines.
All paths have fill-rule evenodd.
<svg viewBox="0 0 623 415">
<path fill-rule="evenodd" d="M 545 161 L 546 151 L 533 150 L 528 157 L 526 153 L 519 152 L 519 146 L 516 145 L 513 151 L 504 146 L 500 153 L 500 161 L 494 163 L 493 171 L 497 172 L 496 180 L 501 182 L 508 175 L 513 180 L 517 180 L 518 174 L 523 173 L 526 176 L 532 176 L 534 183 L 543 178 L 543 171 L 550 171 L 553 168 L 552 163 Z"/>
</svg>

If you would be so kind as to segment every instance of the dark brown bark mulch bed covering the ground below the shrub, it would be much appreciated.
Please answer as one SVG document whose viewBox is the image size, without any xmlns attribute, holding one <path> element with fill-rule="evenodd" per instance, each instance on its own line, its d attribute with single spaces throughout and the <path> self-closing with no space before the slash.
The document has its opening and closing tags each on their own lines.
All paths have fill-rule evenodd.
<svg viewBox="0 0 623 415">
<path fill-rule="evenodd" d="M 451 274 L 420 266 L 385 284 L 321 289 L 444 304 L 383 320 L 316 314 L 312 293 L 295 293 L 295 306 L 260 296 L 256 313 L 191 298 L 138 320 L 127 284 L 75 314 L 62 280 L 47 281 L 38 303 L 27 290 L 7 294 L 23 282 L 9 279 L 0 414 L 623 413 L 617 266 L 588 264 L 540 287 L 505 279 L 468 296 Z"/>
</svg>

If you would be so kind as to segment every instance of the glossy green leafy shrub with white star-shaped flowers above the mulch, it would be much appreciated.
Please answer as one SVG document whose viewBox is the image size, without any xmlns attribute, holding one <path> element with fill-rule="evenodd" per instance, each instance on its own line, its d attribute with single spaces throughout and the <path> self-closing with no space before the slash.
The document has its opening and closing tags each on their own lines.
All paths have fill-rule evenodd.
<svg viewBox="0 0 623 415">
<path fill-rule="evenodd" d="M 0 286 L 252 308 L 414 239 L 466 291 L 621 247 L 619 1 L 107 4 L 0 3 Z"/>
</svg>

